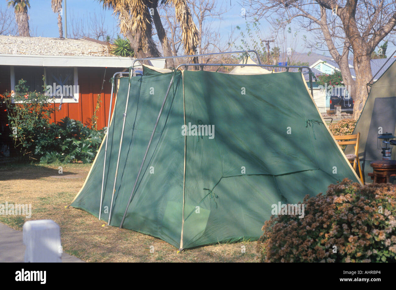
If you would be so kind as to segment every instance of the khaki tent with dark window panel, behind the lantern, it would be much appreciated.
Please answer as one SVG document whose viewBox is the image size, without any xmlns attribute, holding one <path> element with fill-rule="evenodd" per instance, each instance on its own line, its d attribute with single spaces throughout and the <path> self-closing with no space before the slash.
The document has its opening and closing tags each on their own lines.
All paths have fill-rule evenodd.
<svg viewBox="0 0 396 290">
<path fill-rule="evenodd" d="M 360 132 L 359 159 L 365 182 L 373 182 L 367 174 L 373 172 L 370 162 L 381 160 L 381 147 L 385 144 L 378 139 L 383 132 L 396 133 L 396 62 L 378 78 L 371 86 L 370 93 L 356 123 L 354 132 Z M 354 153 L 354 146 L 345 148 L 346 154 Z M 392 150 L 392 159 L 396 159 L 396 150 Z M 394 182 L 391 177 L 390 182 Z"/>
</svg>

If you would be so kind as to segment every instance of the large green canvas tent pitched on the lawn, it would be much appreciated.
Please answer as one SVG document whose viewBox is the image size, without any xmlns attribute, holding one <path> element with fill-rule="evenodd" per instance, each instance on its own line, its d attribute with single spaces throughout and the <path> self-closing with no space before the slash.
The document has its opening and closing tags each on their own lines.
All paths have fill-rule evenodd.
<svg viewBox="0 0 396 290">
<path fill-rule="evenodd" d="M 96 217 L 101 209 L 104 221 L 111 208 L 112 226 L 126 212 L 122 227 L 185 249 L 255 240 L 274 206 L 345 177 L 360 182 L 301 72 L 145 69 L 119 78 L 109 130 L 71 206 Z"/>
</svg>

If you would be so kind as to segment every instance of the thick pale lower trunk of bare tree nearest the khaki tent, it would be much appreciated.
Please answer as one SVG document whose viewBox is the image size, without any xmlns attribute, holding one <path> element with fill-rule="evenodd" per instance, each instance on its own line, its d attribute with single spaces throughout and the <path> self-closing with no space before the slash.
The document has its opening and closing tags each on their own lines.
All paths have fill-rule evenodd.
<svg viewBox="0 0 396 290">
<path fill-rule="evenodd" d="M 355 49 L 354 52 L 356 52 Z M 361 54 L 358 52 L 354 54 L 353 65 L 356 72 L 356 94 L 354 95 L 355 103 L 352 117 L 355 120 L 358 120 L 360 113 L 362 113 L 368 96 L 366 84 L 373 77 L 371 73 L 370 55 L 371 53 Z"/>
</svg>

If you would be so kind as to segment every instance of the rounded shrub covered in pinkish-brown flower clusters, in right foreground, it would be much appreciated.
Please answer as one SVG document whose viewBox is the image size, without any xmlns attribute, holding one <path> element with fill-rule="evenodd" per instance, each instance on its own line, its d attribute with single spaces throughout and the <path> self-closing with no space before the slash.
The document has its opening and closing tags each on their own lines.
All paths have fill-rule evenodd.
<svg viewBox="0 0 396 290">
<path fill-rule="evenodd" d="M 304 198 L 305 216 L 272 216 L 257 242 L 262 262 L 395 262 L 396 193 L 390 183 L 344 179 Z"/>
</svg>

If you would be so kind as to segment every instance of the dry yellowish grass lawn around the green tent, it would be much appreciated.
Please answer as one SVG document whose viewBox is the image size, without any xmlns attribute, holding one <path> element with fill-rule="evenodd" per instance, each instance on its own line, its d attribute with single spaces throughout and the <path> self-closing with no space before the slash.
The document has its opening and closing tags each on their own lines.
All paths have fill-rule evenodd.
<svg viewBox="0 0 396 290">
<path fill-rule="evenodd" d="M 63 167 L 63 174 L 58 167 Z M 254 262 L 256 242 L 215 244 L 185 250 L 158 238 L 65 208 L 78 193 L 91 164 L 0 164 L 0 204 L 32 204 L 33 219 L 52 219 L 61 228 L 63 250 L 87 262 Z M 0 222 L 22 230 L 25 216 L 0 216 Z M 103 226 L 105 225 L 105 226 Z M 154 253 L 150 253 L 154 246 Z M 242 246 L 246 253 L 241 253 Z"/>
</svg>

